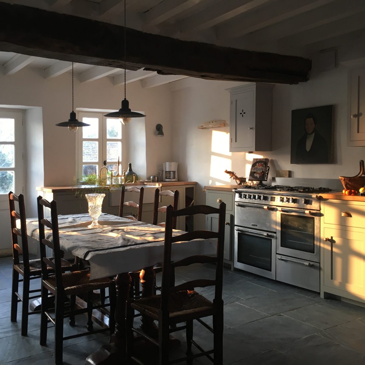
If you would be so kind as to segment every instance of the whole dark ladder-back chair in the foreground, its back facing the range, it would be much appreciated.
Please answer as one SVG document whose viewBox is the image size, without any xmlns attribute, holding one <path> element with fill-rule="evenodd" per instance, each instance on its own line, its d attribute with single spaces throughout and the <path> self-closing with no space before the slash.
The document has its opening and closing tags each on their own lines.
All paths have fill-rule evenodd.
<svg viewBox="0 0 365 365">
<path fill-rule="evenodd" d="M 195 214 L 218 214 L 218 232 L 212 231 L 192 231 L 179 236 L 172 235 L 173 218 Z M 165 226 L 165 247 L 164 262 L 162 270 L 162 287 L 161 294 L 142 299 L 128 299 L 126 309 L 126 338 L 127 338 L 127 359 L 134 360 L 142 364 L 140 360 L 131 353 L 134 333 L 141 335 L 143 338 L 159 346 L 160 365 L 174 364 L 180 361 L 187 361 L 192 364 L 196 357 L 207 356 L 215 365 L 223 364 L 223 300 L 222 300 L 222 283 L 223 283 L 223 250 L 224 250 L 224 222 L 226 214 L 226 204 L 221 203 L 219 208 L 209 207 L 207 205 L 196 205 L 174 211 L 170 205 L 166 211 Z M 171 250 L 174 249 L 172 243 L 191 241 L 193 239 L 212 239 L 217 238 L 216 256 L 195 255 L 184 258 L 177 262 L 171 262 Z M 181 243 L 184 244 L 184 243 Z M 199 241 L 196 241 L 199 245 Z M 215 280 L 197 279 L 170 287 L 171 268 L 178 266 L 187 266 L 195 263 L 204 264 L 207 262 L 216 263 Z M 194 291 L 196 287 L 215 286 L 215 296 L 213 302 Z M 143 316 L 148 316 L 153 320 L 158 320 L 158 341 L 149 337 L 140 328 L 133 327 L 134 311 L 137 310 Z M 213 316 L 213 328 L 201 320 L 203 317 Z M 193 340 L 193 320 L 207 327 L 214 334 L 214 349 L 204 351 Z M 176 328 L 170 328 L 171 325 L 186 322 Z M 186 329 L 187 338 L 187 357 L 169 361 L 169 334 L 175 331 Z M 200 353 L 192 353 L 192 345 L 196 346 Z M 214 354 L 214 359 L 211 357 Z M 130 362 L 128 362 L 130 364 Z"/>
</svg>

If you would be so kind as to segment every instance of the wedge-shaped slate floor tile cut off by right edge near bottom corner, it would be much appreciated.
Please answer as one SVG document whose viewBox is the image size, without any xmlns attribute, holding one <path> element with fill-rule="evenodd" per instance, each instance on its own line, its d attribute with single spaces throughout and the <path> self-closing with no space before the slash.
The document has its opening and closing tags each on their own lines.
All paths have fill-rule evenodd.
<svg viewBox="0 0 365 365">
<path fill-rule="evenodd" d="M 328 328 L 328 330 L 322 331 L 321 334 L 324 337 L 365 354 L 365 318 Z"/>
</svg>

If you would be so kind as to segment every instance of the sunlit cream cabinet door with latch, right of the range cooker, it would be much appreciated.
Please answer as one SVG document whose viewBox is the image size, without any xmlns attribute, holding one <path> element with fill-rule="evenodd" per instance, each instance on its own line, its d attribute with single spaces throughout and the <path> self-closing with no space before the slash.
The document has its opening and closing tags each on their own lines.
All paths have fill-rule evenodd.
<svg viewBox="0 0 365 365">
<path fill-rule="evenodd" d="M 365 234 L 324 227 L 324 285 L 365 296 Z"/>
</svg>

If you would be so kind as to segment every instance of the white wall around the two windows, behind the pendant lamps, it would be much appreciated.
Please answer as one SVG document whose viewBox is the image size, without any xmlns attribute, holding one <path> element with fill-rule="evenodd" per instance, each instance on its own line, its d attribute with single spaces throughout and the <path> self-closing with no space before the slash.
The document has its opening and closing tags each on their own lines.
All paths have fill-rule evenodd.
<svg viewBox="0 0 365 365">
<path fill-rule="evenodd" d="M 69 185 L 76 174 L 76 134 L 55 124 L 68 120 L 72 108 L 70 73 L 45 80 L 43 70 L 24 68 L 12 76 L 0 75 L 0 100 L 5 105 L 42 108 L 44 184 Z M 115 87 L 108 77 L 92 82 L 75 80 L 75 108 L 118 109 L 124 87 Z M 168 85 L 143 89 L 139 82 L 127 85 L 127 99 L 133 110 L 146 114 L 147 176 L 155 175 L 162 162 L 172 158 L 172 127 Z M 155 126 L 164 126 L 166 138 L 155 136 Z M 128 126 L 127 126 L 128 127 Z M 77 132 L 78 133 L 78 132 Z M 158 141 L 159 148 L 154 148 Z M 128 141 L 126 141 L 128 143 Z M 138 151 L 136 151 L 138 153 Z M 123 168 L 129 161 L 123 161 Z M 138 171 L 135 170 L 137 173 Z"/>
</svg>

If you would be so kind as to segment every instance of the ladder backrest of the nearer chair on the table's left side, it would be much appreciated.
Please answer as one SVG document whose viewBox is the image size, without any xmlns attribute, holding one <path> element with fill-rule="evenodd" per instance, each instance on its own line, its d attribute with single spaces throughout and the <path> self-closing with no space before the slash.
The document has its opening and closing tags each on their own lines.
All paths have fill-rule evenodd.
<svg viewBox="0 0 365 365">
<path fill-rule="evenodd" d="M 51 209 L 51 220 L 44 218 L 44 207 Z M 41 265 L 42 265 L 42 278 L 48 277 L 47 265 L 50 265 L 55 272 L 56 287 L 62 290 L 62 271 L 61 271 L 61 249 L 59 247 L 59 231 L 58 231 L 58 216 L 57 216 L 57 203 L 52 200 L 51 202 L 43 199 L 41 196 L 37 198 L 38 208 L 38 227 L 39 227 L 39 241 L 41 251 Z M 45 226 L 52 230 L 52 242 L 45 238 Z M 54 261 L 49 263 L 49 259 L 46 256 L 46 247 L 53 249 Z"/>
</svg>

